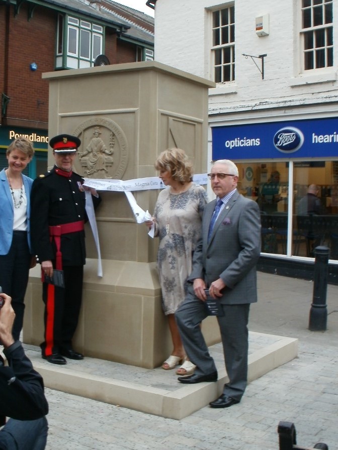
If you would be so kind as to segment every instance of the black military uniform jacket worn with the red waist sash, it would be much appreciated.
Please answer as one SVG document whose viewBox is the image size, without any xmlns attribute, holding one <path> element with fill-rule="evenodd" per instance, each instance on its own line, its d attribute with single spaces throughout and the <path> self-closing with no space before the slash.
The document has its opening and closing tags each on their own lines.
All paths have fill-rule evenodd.
<svg viewBox="0 0 338 450">
<path fill-rule="evenodd" d="M 49 226 L 87 220 L 84 182 L 77 173 L 57 174 L 57 167 L 33 182 L 31 193 L 31 243 L 38 262 L 55 261 L 56 248 L 50 241 Z M 62 171 L 61 171 L 62 172 Z M 94 201 L 98 202 L 99 199 Z M 94 202 L 95 204 L 95 202 Z M 62 266 L 86 263 L 85 231 L 61 236 Z"/>
</svg>

